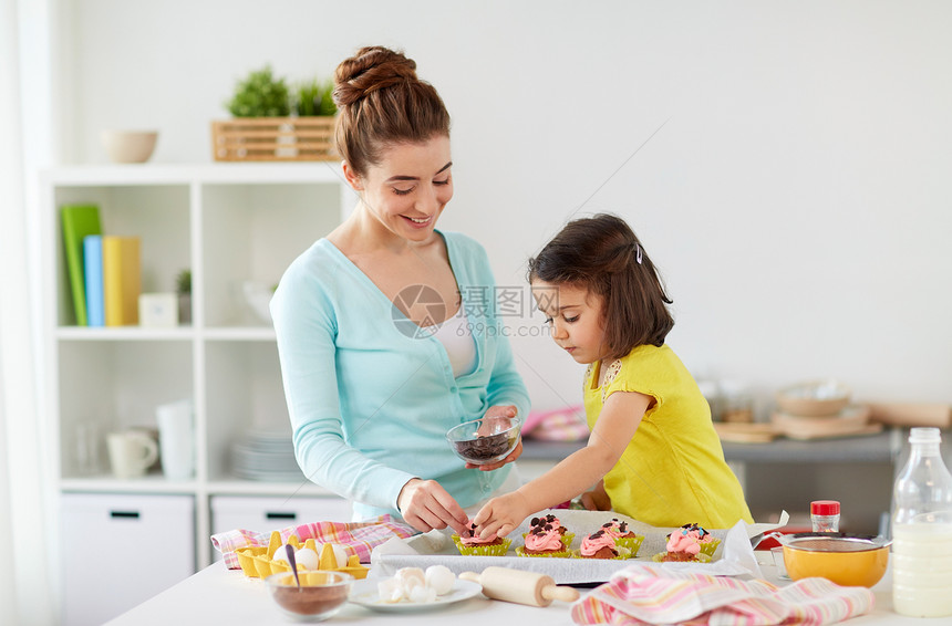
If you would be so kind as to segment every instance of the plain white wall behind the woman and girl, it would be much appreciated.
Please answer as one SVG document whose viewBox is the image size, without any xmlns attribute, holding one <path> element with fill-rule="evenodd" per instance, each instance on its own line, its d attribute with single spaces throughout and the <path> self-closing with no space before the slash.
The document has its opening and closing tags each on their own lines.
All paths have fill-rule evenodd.
<svg viewBox="0 0 952 626">
<path fill-rule="evenodd" d="M 403 48 L 454 119 L 441 226 L 486 244 L 500 284 L 569 216 L 611 210 L 663 269 L 696 375 L 952 401 L 952 3 L 68 9 L 69 160 L 104 161 L 99 132 L 136 126 L 161 129 L 155 161 L 210 160 L 248 71 L 328 77 L 360 45 Z M 537 407 L 580 398 L 549 340 L 515 347 Z"/>
</svg>

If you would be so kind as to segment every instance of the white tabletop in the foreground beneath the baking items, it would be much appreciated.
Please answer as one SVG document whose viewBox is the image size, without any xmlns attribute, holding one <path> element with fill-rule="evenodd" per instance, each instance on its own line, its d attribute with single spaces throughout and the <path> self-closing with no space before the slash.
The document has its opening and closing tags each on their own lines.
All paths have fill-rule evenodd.
<svg viewBox="0 0 952 626">
<path fill-rule="evenodd" d="M 773 565 L 763 565 L 766 580 L 785 584 L 776 577 Z M 867 615 L 848 622 L 851 626 L 949 626 L 950 618 L 903 617 L 892 612 L 890 572 L 873 587 L 876 607 Z M 589 590 L 581 590 L 582 594 Z M 486 626 L 487 624 L 519 624 L 520 626 L 557 626 L 572 624 L 568 604 L 552 603 L 548 607 L 524 606 L 490 601 L 478 595 L 445 608 L 413 613 L 376 613 L 348 604 L 327 622 L 333 624 L 417 624 Z M 277 605 L 268 597 L 262 581 L 246 577 L 240 570 L 226 570 L 214 563 L 177 585 L 124 613 L 110 626 L 187 626 L 192 624 L 227 624 L 228 626 L 261 626 L 289 624 Z"/>
</svg>

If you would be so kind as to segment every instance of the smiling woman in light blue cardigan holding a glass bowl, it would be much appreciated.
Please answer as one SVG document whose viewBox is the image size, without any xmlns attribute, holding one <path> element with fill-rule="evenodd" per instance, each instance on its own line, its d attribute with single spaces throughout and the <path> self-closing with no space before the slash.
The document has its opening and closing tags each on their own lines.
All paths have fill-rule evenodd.
<svg viewBox="0 0 952 626">
<path fill-rule="evenodd" d="M 298 462 L 354 501 L 457 533 L 510 461 L 465 466 L 446 431 L 526 415 L 483 248 L 436 230 L 453 197 L 449 115 L 416 63 L 385 48 L 337 70 L 337 149 L 353 213 L 287 270 L 271 301 Z M 509 484 L 504 484 L 510 478 Z"/>
</svg>

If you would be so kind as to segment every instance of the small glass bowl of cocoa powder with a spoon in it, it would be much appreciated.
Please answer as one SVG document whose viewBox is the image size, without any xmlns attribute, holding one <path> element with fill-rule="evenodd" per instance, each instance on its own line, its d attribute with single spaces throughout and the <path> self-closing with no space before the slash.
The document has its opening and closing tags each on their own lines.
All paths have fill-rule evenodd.
<svg viewBox="0 0 952 626">
<path fill-rule="evenodd" d="M 291 572 L 271 574 L 265 582 L 284 616 L 294 622 L 322 622 L 348 601 L 354 577 L 343 572 L 317 570 L 298 572 L 301 586 Z"/>
</svg>

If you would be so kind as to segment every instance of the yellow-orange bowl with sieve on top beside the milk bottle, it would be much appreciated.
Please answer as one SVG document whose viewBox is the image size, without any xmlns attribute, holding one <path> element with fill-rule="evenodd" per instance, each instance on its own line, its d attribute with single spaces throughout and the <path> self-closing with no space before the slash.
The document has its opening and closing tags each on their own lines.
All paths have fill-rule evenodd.
<svg viewBox="0 0 952 626">
<path fill-rule="evenodd" d="M 780 538 L 784 564 L 794 581 L 819 576 L 845 587 L 871 587 L 889 563 L 882 538 L 848 533 L 797 533 Z"/>
</svg>

